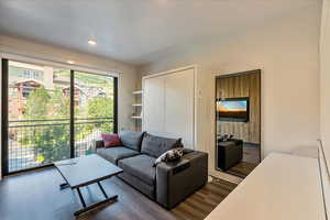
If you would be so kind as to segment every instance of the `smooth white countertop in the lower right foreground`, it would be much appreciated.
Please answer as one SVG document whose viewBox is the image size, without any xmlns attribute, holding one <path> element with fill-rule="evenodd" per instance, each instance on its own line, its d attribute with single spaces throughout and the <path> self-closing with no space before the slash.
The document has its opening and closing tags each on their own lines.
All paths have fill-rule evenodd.
<svg viewBox="0 0 330 220">
<path fill-rule="evenodd" d="M 206 220 L 326 220 L 318 160 L 270 154 Z"/>
</svg>

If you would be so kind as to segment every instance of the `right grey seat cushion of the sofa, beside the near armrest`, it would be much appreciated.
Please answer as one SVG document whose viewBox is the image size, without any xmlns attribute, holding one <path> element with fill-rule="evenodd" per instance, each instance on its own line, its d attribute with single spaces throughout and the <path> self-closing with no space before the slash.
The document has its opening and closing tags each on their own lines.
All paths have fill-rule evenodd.
<svg viewBox="0 0 330 220">
<path fill-rule="evenodd" d="M 132 176 L 141 179 L 142 182 L 154 185 L 156 178 L 156 168 L 153 167 L 156 158 L 147 155 L 138 155 L 118 162 L 118 166 Z"/>
</svg>

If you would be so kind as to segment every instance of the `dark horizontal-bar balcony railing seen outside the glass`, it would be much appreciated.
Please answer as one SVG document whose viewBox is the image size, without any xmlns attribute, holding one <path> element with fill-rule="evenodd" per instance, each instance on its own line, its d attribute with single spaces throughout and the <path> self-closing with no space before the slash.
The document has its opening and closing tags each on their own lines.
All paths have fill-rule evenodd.
<svg viewBox="0 0 330 220">
<path fill-rule="evenodd" d="M 75 119 L 75 156 L 95 152 L 95 140 L 113 132 L 112 118 Z M 9 173 L 70 157 L 69 119 L 9 121 Z"/>
</svg>

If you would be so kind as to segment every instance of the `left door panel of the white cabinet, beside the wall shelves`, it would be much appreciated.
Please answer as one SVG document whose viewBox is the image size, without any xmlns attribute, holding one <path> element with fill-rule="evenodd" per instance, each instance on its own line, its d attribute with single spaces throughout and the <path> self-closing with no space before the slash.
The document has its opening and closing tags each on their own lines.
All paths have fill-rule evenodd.
<svg viewBox="0 0 330 220">
<path fill-rule="evenodd" d="M 147 131 L 148 133 L 155 135 L 164 134 L 164 77 L 152 77 L 144 79 L 143 131 Z"/>
</svg>

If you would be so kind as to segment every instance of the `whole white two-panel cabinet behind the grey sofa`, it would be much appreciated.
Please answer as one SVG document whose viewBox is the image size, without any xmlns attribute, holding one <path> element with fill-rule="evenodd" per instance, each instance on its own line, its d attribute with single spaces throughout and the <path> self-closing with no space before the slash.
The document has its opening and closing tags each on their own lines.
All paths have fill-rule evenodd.
<svg viewBox="0 0 330 220">
<path fill-rule="evenodd" d="M 143 130 L 195 145 L 195 68 L 143 78 Z"/>
</svg>

